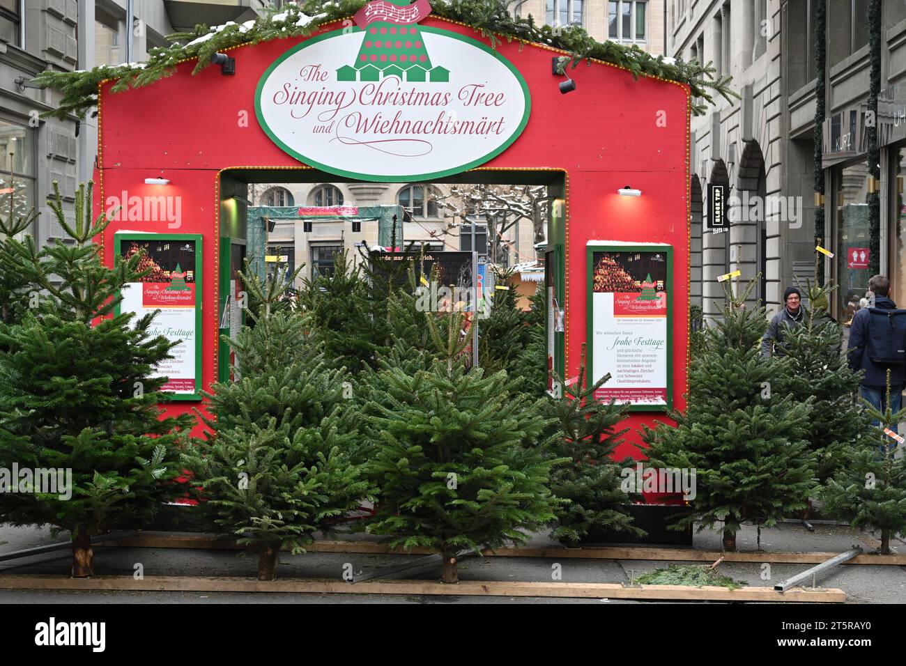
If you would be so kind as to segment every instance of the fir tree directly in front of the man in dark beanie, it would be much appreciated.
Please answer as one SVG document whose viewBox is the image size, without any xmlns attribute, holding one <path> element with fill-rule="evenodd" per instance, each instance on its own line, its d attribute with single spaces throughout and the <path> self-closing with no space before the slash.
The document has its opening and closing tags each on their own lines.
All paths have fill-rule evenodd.
<svg viewBox="0 0 906 666">
<path fill-rule="evenodd" d="M 805 287 L 811 307 L 802 323 L 787 327 L 783 336 L 781 372 L 771 390 L 789 394 L 794 402 L 814 398 L 813 426 L 806 433 L 817 457 L 817 476 L 824 483 L 848 465 L 850 447 L 868 430 L 864 410 L 853 398 L 860 372 L 850 370 L 840 353 L 843 332 L 827 314 L 831 285 L 809 281 Z"/>
</svg>

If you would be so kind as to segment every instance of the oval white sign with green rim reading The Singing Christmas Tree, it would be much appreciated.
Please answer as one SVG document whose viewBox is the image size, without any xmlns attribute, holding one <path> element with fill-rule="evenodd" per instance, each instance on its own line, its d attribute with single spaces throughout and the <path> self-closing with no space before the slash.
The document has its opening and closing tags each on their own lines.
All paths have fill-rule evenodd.
<svg viewBox="0 0 906 666">
<path fill-rule="evenodd" d="M 417 24 L 313 37 L 277 59 L 255 92 L 258 121 L 281 149 L 383 182 L 477 167 L 516 140 L 530 108 L 525 80 L 502 55 Z"/>
</svg>

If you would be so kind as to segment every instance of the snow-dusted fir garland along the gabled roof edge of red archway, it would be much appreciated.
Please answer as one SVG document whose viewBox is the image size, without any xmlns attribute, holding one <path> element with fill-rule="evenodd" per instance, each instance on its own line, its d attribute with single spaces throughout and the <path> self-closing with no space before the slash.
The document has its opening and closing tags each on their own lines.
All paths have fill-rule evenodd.
<svg viewBox="0 0 906 666">
<path fill-rule="evenodd" d="M 80 72 L 41 72 L 35 82 L 63 92 L 59 106 L 44 115 L 60 119 L 68 115 L 84 118 L 97 106 L 98 85 L 105 80 L 117 80 L 111 88 L 112 92 L 139 88 L 172 75 L 176 72 L 176 65 L 185 60 L 196 60 L 192 73 L 198 73 L 210 64 L 213 53 L 240 44 L 312 34 L 323 24 L 348 19 L 365 2 L 308 0 L 302 5 L 290 4 L 279 10 L 271 9 L 244 24 L 229 22 L 213 28 L 197 25 L 194 32 L 170 34 L 167 39 L 174 43 L 169 48 L 152 48 L 146 63 L 103 65 Z M 535 24 L 531 15 L 514 18 L 507 12 L 504 0 L 433 0 L 431 6 L 432 14 L 473 26 L 495 47 L 502 35 L 507 41 L 519 39 L 562 49 L 570 54 L 573 67 L 583 60 L 594 58 L 619 65 L 636 78 L 650 75 L 686 83 L 691 89 L 690 103 L 695 115 L 705 112 L 705 104 L 698 102 L 713 104 L 713 95 L 720 95 L 728 101 L 738 98 L 729 87 L 731 77 L 715 79 L 711 63 L 702 65 L 696 60 L 686 63 L 679 59 L 665 61 L 662 56 L 645 53 L 635 44 L 597 42 L 581 27 L 539 25 Z M 92 115 L 96 113 L 92 111 Z"/>
</svg>

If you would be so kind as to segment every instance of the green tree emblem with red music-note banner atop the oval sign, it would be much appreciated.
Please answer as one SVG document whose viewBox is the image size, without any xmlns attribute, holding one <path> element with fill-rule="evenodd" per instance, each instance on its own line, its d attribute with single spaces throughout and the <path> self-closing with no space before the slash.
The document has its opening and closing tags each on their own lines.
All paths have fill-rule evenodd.
<svg viewBox="0 0 906 666">
<path fill-rule="evenodd" d="M 373 0 L 355 14 L 364 31 L 352 65 L 337 70 L 338 81 L 378 81 L 405 77 L 408 82 L 448 82 L 449 70 L 432 66 L 417 23 L 430 14 L 428 0 Z"/>
</svg>

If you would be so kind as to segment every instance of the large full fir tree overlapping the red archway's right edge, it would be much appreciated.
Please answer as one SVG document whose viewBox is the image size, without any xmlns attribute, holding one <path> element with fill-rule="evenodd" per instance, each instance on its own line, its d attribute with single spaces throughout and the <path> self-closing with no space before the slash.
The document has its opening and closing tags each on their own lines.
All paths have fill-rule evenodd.
<svg viewBox="0 0 906 666">
<path fill-rule="evenodd" d="M 736 550 L 739 526 L 773 526 L 806 506 L 814 488 L 809 448 L 812 400 L 771 391 L 776 358 L 762 359 L 765 309 L 726 286 L 722 318 L 705 331 L 704 349 L 689 366 L 686 413 L 677 426 L 643 427 L 649 467 L 696 470 L 696 497 L 671 528 L 723 524 L 724 547 Z"/>
</svg>

